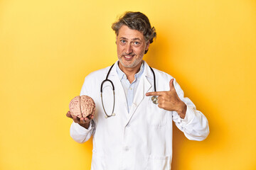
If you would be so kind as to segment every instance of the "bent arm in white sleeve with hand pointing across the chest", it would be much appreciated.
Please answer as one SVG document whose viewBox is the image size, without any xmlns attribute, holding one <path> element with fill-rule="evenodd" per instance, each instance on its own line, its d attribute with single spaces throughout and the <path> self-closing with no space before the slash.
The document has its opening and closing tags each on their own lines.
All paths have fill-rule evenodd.
<svg viewBox="0 0 256 170">
<path fill-rule="evenodd" d="M 181 87 L 171 79 L 169 91 L 149 92 L 146 96 L 159 96 L 159 108 L 172 111 L 173 120 L 189 140 L 204 140 L 209 134 L 208 120 L 189 98 L 184 98 Z"/>
</svg>

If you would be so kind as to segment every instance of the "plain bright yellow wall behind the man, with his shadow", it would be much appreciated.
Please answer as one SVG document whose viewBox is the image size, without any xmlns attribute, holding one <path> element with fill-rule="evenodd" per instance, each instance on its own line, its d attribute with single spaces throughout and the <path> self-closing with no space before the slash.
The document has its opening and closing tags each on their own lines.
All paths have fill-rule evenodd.
<svg viewBox="0 0 256 170">
<path fill-rule="evenodd" d="M 85 76 L 117 60 L 111 24 L 142 11 L 144 60 L 176 77 L 210 135 L 174 128 L 174 170 L 256 169 L 256 1 L 0 1 L 0 169 L 90 169 L 65 118 Z"/>
</svg>

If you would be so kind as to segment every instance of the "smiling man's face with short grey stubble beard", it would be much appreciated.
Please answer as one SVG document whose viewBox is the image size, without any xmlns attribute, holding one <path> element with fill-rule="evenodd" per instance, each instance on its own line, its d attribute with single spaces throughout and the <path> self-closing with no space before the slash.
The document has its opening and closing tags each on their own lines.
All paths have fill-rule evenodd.
<svg viewBox="0 0 256 170">
<path fill-rule="evenodd" d="M 134 68 L 142 63 L 145 50 L 149 49 L 149 41 L 139 30 L 122 26 L 117 35 L 117 57 L 123 67 Z"/>
</svg>

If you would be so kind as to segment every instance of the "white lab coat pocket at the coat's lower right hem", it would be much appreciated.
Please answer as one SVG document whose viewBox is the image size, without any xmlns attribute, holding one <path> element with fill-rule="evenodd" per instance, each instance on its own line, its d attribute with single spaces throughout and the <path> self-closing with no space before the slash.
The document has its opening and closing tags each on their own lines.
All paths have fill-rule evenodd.
<svg viewBox="0 0 256 170">
<path fill-rule="evenodd" d="M 170 170 L 171 156 L 149 155 L 146 170 Z"/>
</svg>

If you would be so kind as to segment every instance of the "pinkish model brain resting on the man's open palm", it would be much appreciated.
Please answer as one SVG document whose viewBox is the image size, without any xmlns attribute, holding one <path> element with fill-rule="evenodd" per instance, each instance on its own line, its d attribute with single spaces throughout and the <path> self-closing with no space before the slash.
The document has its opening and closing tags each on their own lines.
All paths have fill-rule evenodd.
<svg viewBox="0 0 256 170">
<path fill-rule="evenodd" d="M 89 96 L 76 96 L 70 101 L 70 113 L 78 118 L 86 118 L 95 114 L 95 102 Z"/>
</svg>

